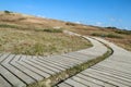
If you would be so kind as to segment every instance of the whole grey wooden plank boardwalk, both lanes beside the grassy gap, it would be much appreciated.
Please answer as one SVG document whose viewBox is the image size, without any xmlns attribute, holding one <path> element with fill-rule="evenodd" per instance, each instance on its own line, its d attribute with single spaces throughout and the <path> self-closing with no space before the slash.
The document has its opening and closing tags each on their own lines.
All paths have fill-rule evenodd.
<svg viewBox="0 0 131 87">
<path fill-rule="evenodd" d="M 71 32 L 69 34 L 80 36 Z M 52 57 L 0 53 L 0 87 L 26 87 L 96 59 L 108 50 L 102 42 L 112 48 L 112 55 L 56 87 L 131 87 L 131 52 L 100 38 L 83 37 L 93 44 L 92 48 Z"/>
</svg>

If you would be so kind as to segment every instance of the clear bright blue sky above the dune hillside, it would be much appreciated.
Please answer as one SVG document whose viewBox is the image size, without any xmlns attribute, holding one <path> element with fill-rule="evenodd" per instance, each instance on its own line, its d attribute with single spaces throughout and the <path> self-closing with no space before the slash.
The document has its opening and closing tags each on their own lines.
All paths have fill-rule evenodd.
<svg viewBox="0 0 131 87">
<path fill-rule="evenodd" d="M 131 0 L 0 0 L 3 10 L 131 29 Z"/>
</svg>

